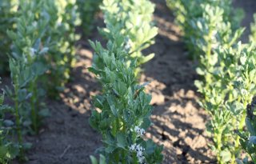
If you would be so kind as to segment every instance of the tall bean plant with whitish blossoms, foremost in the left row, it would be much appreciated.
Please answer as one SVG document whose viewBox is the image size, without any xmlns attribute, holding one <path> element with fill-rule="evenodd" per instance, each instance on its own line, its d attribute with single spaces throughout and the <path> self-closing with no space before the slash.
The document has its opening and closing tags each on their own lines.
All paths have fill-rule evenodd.
<svg viewBox="0 0 256 164">
<path fill-rule="evenodd" d="M 21 1 L 17 17 L 17 30 L 8 31 L 12 39 L 12 53 L 9 55 L 11 80 L 14 90 L 6 87 L 6 93 L 14 101 L 16 126 L 19 142 L 22 142 L 22 127 L 38 133 L 44 91 L 38 87 L 38 79 L 46 72 L 44 55 L 49 50 L 50 39 L 42 42 L 49 22 L 49 14 L 38 12 L 44 2 Z"/>
</svg>

